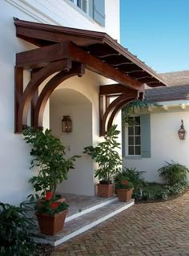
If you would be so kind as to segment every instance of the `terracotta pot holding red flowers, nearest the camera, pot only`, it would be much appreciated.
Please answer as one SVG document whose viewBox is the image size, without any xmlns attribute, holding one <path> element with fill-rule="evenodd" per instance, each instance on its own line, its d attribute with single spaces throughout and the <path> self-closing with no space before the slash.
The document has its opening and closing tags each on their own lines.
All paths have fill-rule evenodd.
<svg viewBox="0 0 189 256">
<path fill-rule="evenodd" d="M 63 210 L 60 213 L 54 214 L 54 216 L 47 215 L 45 213 L 38 213 L 38 226 L 42 234 L 48 234 L 53 236 L 59 231 L 63 230 L 64 221 L 66 218 L 67 209 Z"/>
</svg>

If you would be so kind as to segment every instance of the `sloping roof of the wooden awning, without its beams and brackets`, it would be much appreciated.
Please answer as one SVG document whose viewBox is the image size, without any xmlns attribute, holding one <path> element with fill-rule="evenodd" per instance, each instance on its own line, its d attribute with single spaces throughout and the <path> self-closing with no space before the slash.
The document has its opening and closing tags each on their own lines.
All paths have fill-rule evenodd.
<svg viewBox="0 0 189 256">
<path fill-rule="evenodd" d="M 136 82 L 146 83 L 149 87 L 166 85 L 155 71 L 106 33 L 26 22 L 16 18 L 14 18 L 14 24 L 18 38 L 38 47 L 70 41 L 74 43 L 75 50 L 77 46 L 80 50 L 85 51 L 86 55 L 94 56 L 103 63 L 107 63 L 116 71 L 121 71 L 123 75 L 135 79 Z"/>
</svg>

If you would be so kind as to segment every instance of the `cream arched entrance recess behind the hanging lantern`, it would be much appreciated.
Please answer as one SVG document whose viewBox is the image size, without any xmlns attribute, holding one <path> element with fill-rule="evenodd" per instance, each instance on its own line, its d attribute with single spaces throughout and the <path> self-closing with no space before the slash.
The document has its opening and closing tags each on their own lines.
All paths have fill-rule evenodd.
<svg viewBox="0 0 189 256">
<path fill-rule="evenodd" d="M 72 132 L 62 132 L 62 116 L 70 116 Z M 59 193 L 92 194 L 93 165 L 83 148 L 92 144 L 92 103 L 81 92 L 59 87 L 50 95 L 50 129 L 66 146 L 66 156 L 82 156 L 68 179 L 58 187 Z M 91 181 L 91 182 L 85 182 Z"/>
</svg>

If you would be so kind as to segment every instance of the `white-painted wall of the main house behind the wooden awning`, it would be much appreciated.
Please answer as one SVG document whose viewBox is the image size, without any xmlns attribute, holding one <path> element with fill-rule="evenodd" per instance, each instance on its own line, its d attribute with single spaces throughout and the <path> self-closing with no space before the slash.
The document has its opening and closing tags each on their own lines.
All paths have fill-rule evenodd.
<svg viewBox="0 0 189 256">
<path fill-rule="evenodd" d="M 0 201 L 18 204 L 32 193 L 27 183 L 30 178 L 30 147 L 23 141 L 22 135 L 14 134 L 14 65 L 15 54 L 34 49 L 34 45 L 16 38 L 13 17 L 54 25 L 71 26 L 87 30 L 107 31 L 119 41 L 119 0 L 106 0 L 106 26 L 99 26 L 86 14 L 82 14 L 71 4 L 70 0 L 2 0 L 0 1 Z M 112 18 L 114 14 L 114 18 Z M 94 74 L 88 75 L 92 79 Z M 27 82 L 30 74 L 26 72 Z M 95 84 L 88 87 L 87 94 L 92 95 L 92 141 L 99 140 L 99 84 L 107 83 L 107 79 L 96 76 Z M 88 84 L 87 84 L 88 85 Z M 83 87 L 83 85 L 82 85 Z M 81 86 L 75 86 L 80 90 Z M 98 99 L 98 100 L 97 100 Z M 46 107 L 44 127 L 49 127 L 49 108 Z M 92 164 L 91 164 L 92 165 Z"/>
</svg>

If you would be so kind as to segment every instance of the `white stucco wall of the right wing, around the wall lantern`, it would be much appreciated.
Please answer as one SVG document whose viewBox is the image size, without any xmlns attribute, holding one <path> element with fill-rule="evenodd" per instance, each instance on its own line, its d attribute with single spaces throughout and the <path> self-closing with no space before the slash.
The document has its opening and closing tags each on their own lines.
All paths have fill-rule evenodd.
<svg viewBox="0 0 189 256">
<path fill-rule="evenodd" d="M 188 107 L 184 110 L 178 107 L 175 111 L 168 108 L 164 112 L 151 112 L 151 158 L 124 157 L 124 166 L 146 171 L 146 180 L 155 182 L 162 182 L 157 170 L 165 164 L 165 161 L 179 162 L 179 164 L 189 168 L 189 137 L 187 135 L 186 140 L 180 140 L 178 136 L 182 119 L 184 128 L 189 131 Z M 127 145 L 126 128 L 126 155 Z"/>
</svg>

